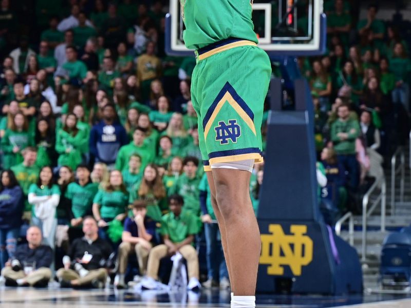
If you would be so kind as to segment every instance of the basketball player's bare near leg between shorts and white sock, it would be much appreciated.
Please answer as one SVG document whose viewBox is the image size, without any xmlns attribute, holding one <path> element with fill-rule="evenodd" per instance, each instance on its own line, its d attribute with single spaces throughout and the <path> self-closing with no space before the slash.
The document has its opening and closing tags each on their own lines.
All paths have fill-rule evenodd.
<svg viewBox="0 0 411 308">
<path fill-rule="evenodd" d="M 253 296 L 257 281 L 261 241 L 250 199 L 250 172 L 213 168 L 220 230 L 226 235 L 228 268 L 235 296 Z M 221 234 L 222 236 L 222 234 Z"/>
</svg>

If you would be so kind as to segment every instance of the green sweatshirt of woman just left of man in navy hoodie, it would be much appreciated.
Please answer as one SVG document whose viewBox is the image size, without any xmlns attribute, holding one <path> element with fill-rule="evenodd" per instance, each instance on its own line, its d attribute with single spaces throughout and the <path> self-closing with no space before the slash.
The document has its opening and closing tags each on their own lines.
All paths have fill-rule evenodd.
<svg viewBox="0 0 411 308">
<path fill-rule="evenodd" d="M 76 136 L 73 133 L 60 129 L 57 132 L 57 140 L 55 142 L 55 150 L 60 154 L 57 161 L 59 166 L 69 166 L 71 169 L 76 169 L 81 163 L 82 146 L 84 144 L 84 131 L 79 130 Z M 70 149 L 67 152 L 67 149 Z"/>
</svg>

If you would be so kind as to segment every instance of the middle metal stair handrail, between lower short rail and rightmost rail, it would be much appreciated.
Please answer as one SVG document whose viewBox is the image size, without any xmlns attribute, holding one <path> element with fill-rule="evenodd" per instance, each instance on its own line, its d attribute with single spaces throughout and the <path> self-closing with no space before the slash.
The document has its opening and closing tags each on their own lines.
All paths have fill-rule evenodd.
<svg viewBox="0 0 411 308">
<path fill-rule="evenodd" d="M 378 189 L 381 189 L 378 197 L 372 202 L 368 208 L 371 195 Z M 385 183 L 385 177 L 382 176 L 376 179 L 375 183 L 368 189 L 363 198 L 363 217 L 362 217 L 362 243 L 361 243 L 361 261 L 366 261 L 367 254 L 367 219 L 371 216 L 373 211 L 377 208 L 377 205 L 381 202 L 381 232 L 385 232 L 385 210 L 386 210 L 386 194 L 387 185 Z"/>
</svg>

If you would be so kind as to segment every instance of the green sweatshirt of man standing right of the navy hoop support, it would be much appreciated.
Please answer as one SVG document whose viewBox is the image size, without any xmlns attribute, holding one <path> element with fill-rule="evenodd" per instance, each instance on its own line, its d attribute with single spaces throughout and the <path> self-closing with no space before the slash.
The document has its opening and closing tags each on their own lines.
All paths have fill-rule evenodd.
<svg viewBox="0 0 411 308">
<path fill-rule="evenodd" d="M 348 134 L 348 139 L 342 140 L 338 133 Z M 337 119 L 331 124 L 331 140 L 338 155 L 352 155 L 356 153 L 356 139 L 360 135 L 360 125 L 357 121 L 341 121 Z"/>
</svg>

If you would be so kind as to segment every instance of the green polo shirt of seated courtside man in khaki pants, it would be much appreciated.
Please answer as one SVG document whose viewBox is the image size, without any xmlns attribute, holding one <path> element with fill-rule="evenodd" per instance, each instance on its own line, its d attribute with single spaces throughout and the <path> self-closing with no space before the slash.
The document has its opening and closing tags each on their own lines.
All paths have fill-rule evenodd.
<svg viewBox="0 0 411 308">
<path fill-rule="evenodd" d="M 198 233 L 198 222 L 190 211 L 182 210 L 176 217 L 174 213 L 167 213 L 161 218 L 161 234 L 169 236 L 173 243 L 180 243 L 189 235 Z"/>
</svg>

